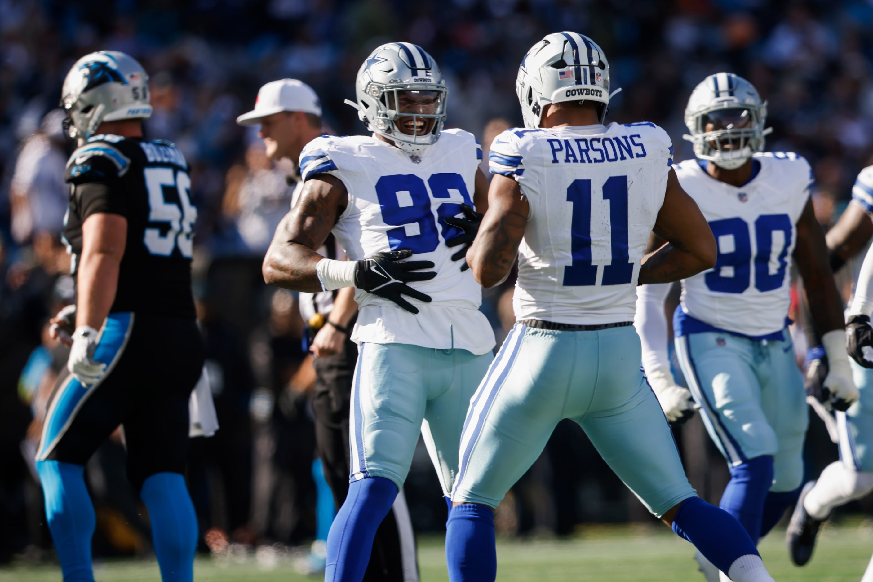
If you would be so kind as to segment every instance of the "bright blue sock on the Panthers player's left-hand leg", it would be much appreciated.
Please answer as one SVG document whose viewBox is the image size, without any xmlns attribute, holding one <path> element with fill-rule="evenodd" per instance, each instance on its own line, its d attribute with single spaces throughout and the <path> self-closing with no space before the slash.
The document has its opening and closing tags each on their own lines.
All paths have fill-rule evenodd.
<svg viewBox="0 0 873 582">
<path fill-rule="evenodd" d="M 91 537 L 94 506 L 85 486 L 85 467 L 70 462 L 38 461 L 45 496 L 45 517 L 58 551 L 64 582 L 93 582 Z"/>
</svg>

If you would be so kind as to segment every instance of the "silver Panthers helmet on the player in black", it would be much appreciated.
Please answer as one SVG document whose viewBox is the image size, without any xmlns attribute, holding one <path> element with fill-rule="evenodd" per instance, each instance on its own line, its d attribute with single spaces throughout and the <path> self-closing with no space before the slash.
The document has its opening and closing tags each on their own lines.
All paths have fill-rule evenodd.
<svg viewBox="0 0 873 582">
<path fill-rule="evenodd" d="M 104 121 L 152 114 L 148 74 L 123 52 L 98 51 L 79 58 L 66 73 L 62 94 L 64 130 L 74 140 L 87 140 Z"/>
</svg>

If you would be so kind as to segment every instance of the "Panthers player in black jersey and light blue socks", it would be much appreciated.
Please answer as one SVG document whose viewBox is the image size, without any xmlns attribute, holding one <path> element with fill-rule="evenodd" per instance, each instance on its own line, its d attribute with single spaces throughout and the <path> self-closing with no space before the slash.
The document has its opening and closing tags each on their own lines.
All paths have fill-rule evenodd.
<svg viewBox="0 0 873 582">
<path fill-rule="evenodd" d="M 49 529 L 65 581 L 92 582 L 94 510 L 82 472 L 121 424 L 162 579 L 188 582 L 197 523 L 182 474 L 189 395 L 203 368 L 188 165 L 172 143 L 142 138 L 148 75 L 122 52 L 80 58 L 62 105 L 79 143 L 67 162 L 64 229 L 78 295 L 69 374 L 49 400 L 37 453 Z"/>
</svg>

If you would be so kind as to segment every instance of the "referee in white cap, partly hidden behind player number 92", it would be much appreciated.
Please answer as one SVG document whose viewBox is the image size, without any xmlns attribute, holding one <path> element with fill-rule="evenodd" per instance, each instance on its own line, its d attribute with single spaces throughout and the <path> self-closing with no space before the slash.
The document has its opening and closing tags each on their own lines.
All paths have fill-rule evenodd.
<svg viewBox="0 0 873 582">
<path fill-rule="evenodd" d="M 297 79 L 272 81 L 258 91 L 254 110 L 240 115 L 237 123 L 260 124 L 258 136 L 264 140 L 267 155 L 272 160 L 288 158 L 296 164 L 306 144 L 321 135 L 319 98 L 310 86 Z M 302 188 L 303 181 L 299 180 L 292 195 L 292 208 Z M 346 260 L 333 234 L 327 236 L 317 252 L 332 260 Z M 350 330 L 358 304 L 354 302 L 354 287 L 301 292 L 299 304 L 300 315 L 306 322 L 307 344 L 315 356 L 315 442 L 333 501 L 340 507 L 346 500 L 350 470 L 348 414 L 354 362 L 358 358 L 358 346 L 351 340 Z M 402 492 L 395 500 L 395 508 L 376 531 L 365 580 L 417 580 L 416 542 Z M 412 561 L 404 567 L 404 559 Z M 412 578 L 404 579 L 404 572 L 410 572 Z"/>
</svg>

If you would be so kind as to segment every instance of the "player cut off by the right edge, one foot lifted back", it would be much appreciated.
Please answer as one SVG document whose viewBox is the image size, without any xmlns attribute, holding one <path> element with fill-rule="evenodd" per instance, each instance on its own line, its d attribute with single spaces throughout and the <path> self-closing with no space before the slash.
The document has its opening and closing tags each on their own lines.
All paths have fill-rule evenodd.
<svg viewBox="0 0 873 582">
<path fill-rule="evenodd" d="M 855 297 L 846 313 L 846 339 L 849 355 L 855 360 L 849 363 L 860 397 L 845 411 L 834 412 L 840 460 L 821 471 L 817 481 L 807 483 L 797 500 L 786 531 L 789 555 L 796 565 L 804 565 L 812 558 L 819 526 L 831 510 L 873 490 L 873 369 L 870 369 L 873 354 L 864 349 L 873 346 L 870 330 L 873 221 L 870 216 L 873 216 L 873 166 L 863 168 L 858 174 L 852 188 L 852 201 L 827 236 L 831 269 L 840 270 L 850 259 L 855 259 L 852 261 Z M 821 346 L 816 346 L 818 343 L 815 338 L 811 339 L 809 345 L 813 347 L 807 358 L 807 384 L 813 397 L 821 393 L 817 388 L 821 385 L 821 376 L 828 370 L 828 359 L 822 358 L 825 354 Z M 863 582 L 873 582 L 873 560 L 864 573 Z"/>
</svg>

